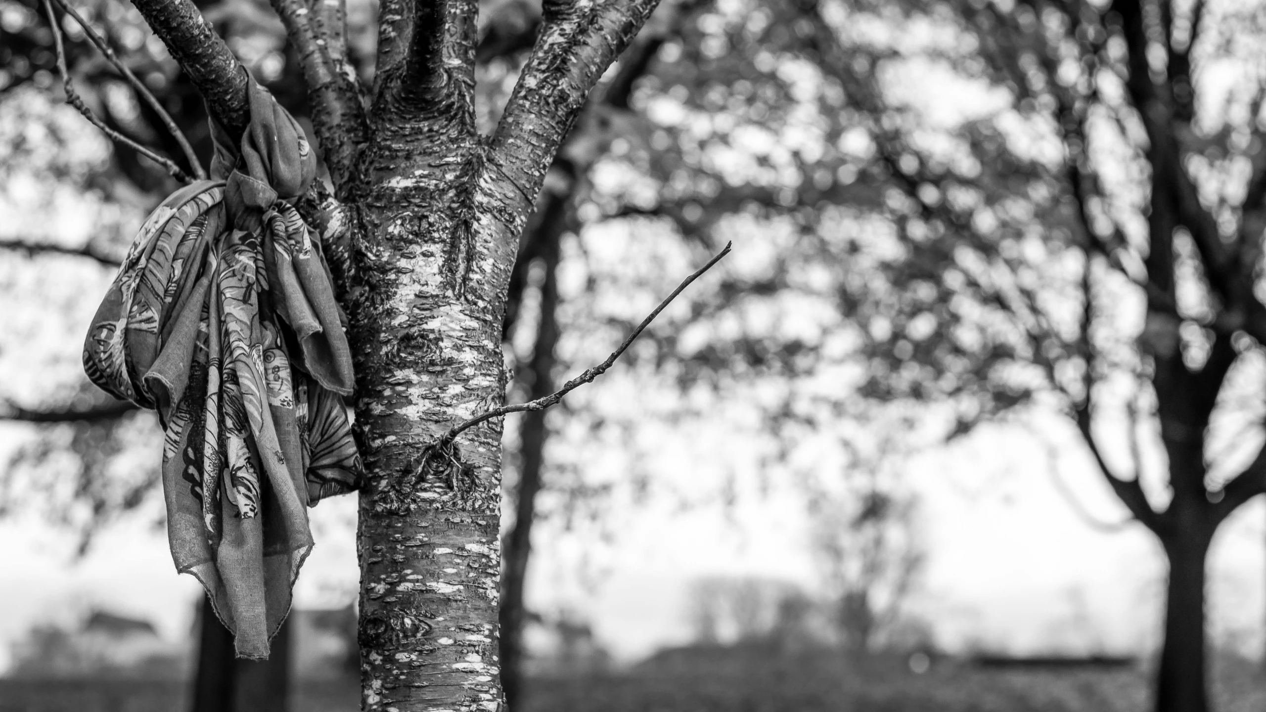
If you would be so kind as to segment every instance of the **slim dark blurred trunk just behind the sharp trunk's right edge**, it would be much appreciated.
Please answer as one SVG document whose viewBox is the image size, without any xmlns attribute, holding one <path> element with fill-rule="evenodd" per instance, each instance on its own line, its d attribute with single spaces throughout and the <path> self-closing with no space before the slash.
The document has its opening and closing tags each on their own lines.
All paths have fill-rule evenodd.
<svg viewBox="0 0 1266 712">
<path fill-rule="evenodd" d="M 565 199 L 551 200 L 537 233 L 539 257 L 544 267 L 541 283 L 541 310 L 532 359 L 519 374 L 528 383 L 528 399 L 544 398 L 555 390 L 555 348 L 558 343 L 558 257 L 560 239 L 566 227 Z M 544 447 L 548 438 L 546 410 L 523 414 L 519 428 L 519 481 L 515 486 L 514 526 L 505 536 L 505 563 L 501 571 L 501 689 L 506 707 L 517 711 L 523 690 L 523 628 L 527 625 L 524 584 L 532 554 L 532 523 L 536 498 L 541 490 Z"/>
</svg>

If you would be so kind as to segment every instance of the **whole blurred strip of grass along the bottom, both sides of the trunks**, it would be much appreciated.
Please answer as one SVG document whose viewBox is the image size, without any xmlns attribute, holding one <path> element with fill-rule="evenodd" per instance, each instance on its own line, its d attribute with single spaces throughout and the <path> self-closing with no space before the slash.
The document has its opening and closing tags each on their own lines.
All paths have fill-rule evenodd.
<svg viewBox="0 0 1266 712">
<path fill-rule="evenodd" d="M 1266 673 L 1223 656 L 1217 712 L 1266 709 Z M 1141 668 L 989 669 L 941 661 L 922 675 L 901 659 L 848 663 L 833 654 L 758 651 L 667 655 L 630 670 L 542 675 L 522 712 L 1147 712 Z M 354 683 L 299 683 L 294 712 L 354 712 Z M 179 712 L 180 682 L 3 680 L 0 712 Z M 520 712 L 520 711 L 515 711 Z"/>
</svg>

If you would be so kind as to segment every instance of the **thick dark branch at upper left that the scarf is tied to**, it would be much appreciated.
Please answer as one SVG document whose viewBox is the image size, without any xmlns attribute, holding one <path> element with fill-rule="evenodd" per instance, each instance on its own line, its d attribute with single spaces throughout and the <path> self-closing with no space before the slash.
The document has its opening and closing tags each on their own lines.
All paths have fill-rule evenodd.
<svg viewBox="0 0 1266 712">
<path fill-rule="evenodd" d="M 133 0 L 149 28 L 163 41 L 208 110 L 233 136 L 251 122 L 246 67 L 203 18 L 191 0 Z"/>
</svg>

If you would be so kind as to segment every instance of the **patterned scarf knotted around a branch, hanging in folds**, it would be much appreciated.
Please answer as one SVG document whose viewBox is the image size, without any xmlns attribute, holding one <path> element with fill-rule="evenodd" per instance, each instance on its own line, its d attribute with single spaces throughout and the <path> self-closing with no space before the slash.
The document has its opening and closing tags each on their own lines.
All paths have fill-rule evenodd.
<svg viewBox="0 0 1266 712">
<path fill-rule="evenodd" d="M 84 345 L 116 398 L 158 412 L 176 569 L 206 588 L 237 654 L 267 658 L 313 546 L 306 507 L 357 489 L 341 395 L 352 361 L 320 242 L 291 201 L 316 158 L 254 80 L 238 146 L 146 220 Z"/>
</svg>

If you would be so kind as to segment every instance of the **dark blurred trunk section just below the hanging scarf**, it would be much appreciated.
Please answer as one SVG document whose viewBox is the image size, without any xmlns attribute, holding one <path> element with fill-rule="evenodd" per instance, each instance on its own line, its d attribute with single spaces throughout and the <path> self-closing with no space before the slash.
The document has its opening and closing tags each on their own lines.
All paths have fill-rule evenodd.
<svg viewBox="0 0 1266 712">
<path fill-rule="evenodd" d="M 199 608 L 197 671 L 194 678 L 194 712 L 287 712 L 290 702 L 290 618 L 272 639 L 267 660 L 238 660 L 233 633 L 225 628 L 210 601 Z"/>
</svg>

